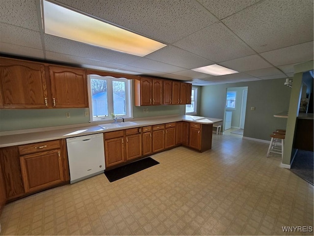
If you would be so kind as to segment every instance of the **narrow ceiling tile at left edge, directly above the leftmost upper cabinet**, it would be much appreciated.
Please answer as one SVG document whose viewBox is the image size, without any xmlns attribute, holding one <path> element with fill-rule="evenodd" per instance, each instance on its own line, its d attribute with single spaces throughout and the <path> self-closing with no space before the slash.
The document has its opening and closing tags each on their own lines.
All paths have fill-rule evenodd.
<svg viewBox="0 0 314 236">
<path fill-rule="evenodd" d="M 35 59 L 44 59 L 44 52 L 40 49 L 28 48 L 24 46 L 19 46 L 10 43 L 0 43 L 0 51 L 4 54 L 35 58 Z"/>
</svg>

